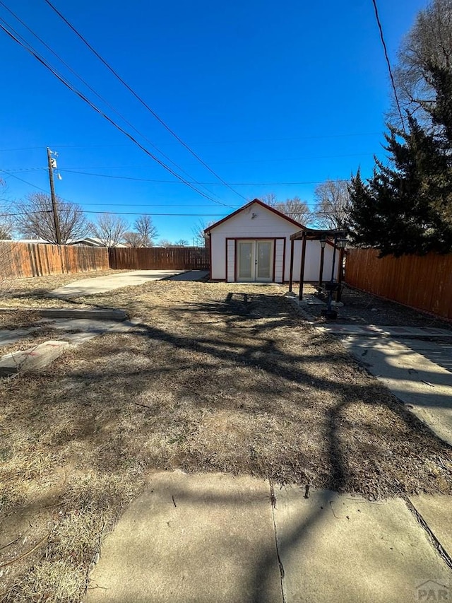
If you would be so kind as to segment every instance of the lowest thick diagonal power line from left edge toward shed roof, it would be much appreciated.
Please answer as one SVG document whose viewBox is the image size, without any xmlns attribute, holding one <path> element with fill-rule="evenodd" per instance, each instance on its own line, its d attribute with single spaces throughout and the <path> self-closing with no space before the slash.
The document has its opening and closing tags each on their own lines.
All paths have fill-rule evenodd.
<svg viewBox="0 0 452 603">
<path fill-rule="evenodd" d="M 1 19 L 1 21 L 4 21 L 4 20 Z M 4 23 L 5 23 L 5 21 L 4 21 Z M 11 26 L 8 25 L 8 27 L 11 27 Z M 176 177 L 181 182 L 184 182 L 184 184 L 186 186 L 188 186 L 189 188 L 191 188 L 192 190 L 194 190 L 195 192 L 197 192 L 198 194 L 200 194 L 202 197 L 205 197 L 206 199 L 209 199 L 209 201 L 213 201 L 213 203 L 216 203 L 216 204 L 219 204 L 219 205 L 222 205 L 222 206 L 225 206 L 225 207 L 230 207 L 230 205 L 222 203 L 222 201 L 217 201 L 216 199 L 213 199 L 212 197 L 209 197 L 206 193 L 203 193 L 202 191 L 200 191 L 196 187 L 194 187 L 194 185 L 191 185 L 187 180 L 184 179 L 184 177 L 182 177 L 181 175 L 179 175 L 177 172 L 174 172 L 174 170 L 172 170 L 172 168 L 169 168 L 169 166 L 166 165 L 162 160 L 160 160 L 155 155 L 153 155 L 153 153 L 151 153 L 148 150 L 148 148 L 145 148 L 145 146 L 143 146 L 140 142 L 138 142 L 131 134 L 129 134 L 128 131 L 126 131 L 119 124 L 117 124 L 117 122 L 114 122 L 114 119 L 112 119 L 111 117 L 109 117 L 105 112 L 103 112 L 99 107 L 97 107 L 97 105 L 95 105 L 91 100 L 89 100 L 89 98 L 87 98 L 83 93 L 81 93 L 80 90 L 77 90 L 77 88 L 75 88 L 75 86 L 73 86 L 73 84 L 71 84 L 69 81 L 67 81 L 66 78 L 64 78 L 64 76 L 61 76 L 61 74 L 59 74 L 57 71 L 55 71 L 52 68 L 52 66 L 50 66 L 47 63 L 47 61 L 43 57 L 40 56 L 40 54 L 38 54 L 37 52 L 35 52 L 35 50 L 32 49 L 32 47 L 30 47 L 30 45 L 27 45 L 26 43 L 24 44 L 23 42 L 20 42 L 20 40 L 18 39 L 18 37 L 16 37 L 15 35 L 13 35 L 13 33 L 11 33 L 11 31 L 9 31 L 1 23 L 0 23 L 0 28 L 2 30 L 4 30 L 4 32 L 6 33 L 6 35 L 8 35 L 9 37 L 11 37 L 11 39 L 14 40 L 14 42 L 16 42 L 20 47 L 22 47 L 23 49 L 25 49 L 28 52 L 30 52 L 30 54 L 32 55 L 32 57 L 35 57 L 35 59 L 37 59 L 38 62 L 40 62 L 46 69 L 48 69 L 59 81 L 61 81 L 61 83 L 63 83 L 64 86 L 66 86 L 66 88 L 69 88 L 69 90 L 71 90 L 74 94 L 76 94 L 79 98 L 81 98 L 81 100 L 83 100 L 85 103 L 87 103 L 95 112 L 97 112 L 99 115 L 101 115 L 102 117 L 104 117 L 104 119 L 106 119 L 107 122 L 109 122 L 110 124 L 112 124 L 112 126 L 114 126 L 115 128 L 117 128 L 119 131 L 121 131 L 121 133 L 124 134 L 124 136 L 127 136 L 127 138 L 129 138 L 133 142 L 133 144 L 136 144 L 136 146 L 138 146 L 138 148 L 141 148 L 141 151 L 143 151 L 144 153 L 146 153 L 146 155 L 150 156 L 150 158 L 152 158 L 156 163 L 158 163 L 159 165 L 161 165 L 162 168 L 164 168 L 165 170 L 167 170 L 167 172 L 169 172 L 170 174 L 172 174 L 174 177 Z"/>
</svg>

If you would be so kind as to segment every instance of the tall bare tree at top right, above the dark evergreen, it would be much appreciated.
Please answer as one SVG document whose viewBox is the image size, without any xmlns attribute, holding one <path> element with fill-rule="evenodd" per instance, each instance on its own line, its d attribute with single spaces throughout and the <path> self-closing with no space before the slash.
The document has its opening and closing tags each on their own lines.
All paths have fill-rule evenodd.
<svg viewBox="0 0 452 603">
<path fill-rule="evenodd" d="M 433 0 L 420 11 L 398 52 L 398 99 L 403 111 L 421 122 L 430 121 L 428 108 L 435 98 L 430 66 L 452 67 L 452 0 Z M 389 117 L 400 125 L 397 107 Z"/>
</svg>

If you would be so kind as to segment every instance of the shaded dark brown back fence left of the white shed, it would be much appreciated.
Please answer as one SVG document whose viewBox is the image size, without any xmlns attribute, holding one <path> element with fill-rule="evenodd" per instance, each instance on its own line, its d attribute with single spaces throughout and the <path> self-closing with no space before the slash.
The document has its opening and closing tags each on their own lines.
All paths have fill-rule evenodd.
<svg viewBox="0 0 452 603">
<path fill-rule="evenodd" d="M 110 247 L 110 267 L 130 270 L 208 270 L 206 247 Z"/>
</svg>

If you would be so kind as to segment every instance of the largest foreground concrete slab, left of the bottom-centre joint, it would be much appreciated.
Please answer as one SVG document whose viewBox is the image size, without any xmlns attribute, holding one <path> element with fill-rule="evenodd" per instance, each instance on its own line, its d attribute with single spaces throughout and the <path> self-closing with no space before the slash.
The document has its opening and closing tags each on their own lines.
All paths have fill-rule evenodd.
<svg viewBox="0 0 452 603">
<path fill-rule="evenodd" d="M 283 603 L 268 482 L 150 476 L 102 547 L 88 603 Z"/>
</svg>

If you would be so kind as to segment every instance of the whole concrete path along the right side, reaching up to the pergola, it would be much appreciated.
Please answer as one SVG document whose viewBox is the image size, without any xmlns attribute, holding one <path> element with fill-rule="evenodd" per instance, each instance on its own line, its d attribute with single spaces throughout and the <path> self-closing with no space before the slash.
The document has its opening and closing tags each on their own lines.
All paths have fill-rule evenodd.
<svg viewBox="0 0 452 603">
<path fill-rule="evenodd" d="M 319 325 L 309 312 L 310 306 L 316 305 L 314 298 L 311 295 L 299 304 L 293 296 L 286 297 L 314 327 L 340 336 L 345 348 L 369 373 L 452 446 L 452 331 L 374 324 Z M 424 341 L 427 337 L 430 341 Z"/>
</svg>

